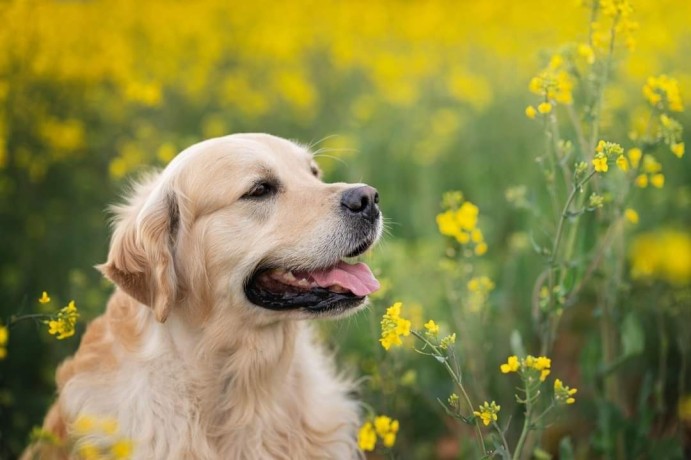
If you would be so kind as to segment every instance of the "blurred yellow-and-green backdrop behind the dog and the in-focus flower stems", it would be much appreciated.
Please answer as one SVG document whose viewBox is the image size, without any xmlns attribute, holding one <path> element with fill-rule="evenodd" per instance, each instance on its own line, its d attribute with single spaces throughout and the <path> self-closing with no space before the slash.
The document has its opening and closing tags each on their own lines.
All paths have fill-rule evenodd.
<svg viewBox="0 0 691 460">
<path fill-rule="evenodd" d="M 645 112 L 649 76 L 673 76 L 682 96 L 691 88 L 691 2 L 633 4 L 636 46 L 615 55 L 601 123 L 624 146 Z M 393 455 L 466 458 L 471 431 L 436 402 L 451 390 L 442 370 L 412 352 L 384 354 L 379 320 L 394 300 L 420 320 L 455 314 L 435 216 L 442 194 L 461 190 L 480 208 L 489 251 L 478 264 L 496 286 L 486 312 L 460 321 L 459 336 L 476 344 L 464 366 L 476 399 L 491 395 L 511 415 L 513 387 L 498 366 L 512 333 L 535 348 L 530 299 L 544 260 L 529 242 L 531 216 L 505 194 L 544 194 L 542 128 L 524 114 L 535 103 L 528 83 L 559 46 L 587 41 L 589 15 L 582 2 L 552 0 L 1 2 L 0 321 L 43 311 L 44 290 L 54 306 L 76 301 L 79 333 L 102 311 L 111 287 L 92 267 L 107 252 L 107 206 L 128 179 L 209 137 L 294 139 L 323 151 L 327 181 L 377 187 L 389 222 L 368 256 L 385 289 L 368 313 L 323 325 L 325 339 L 366 376 L 368 403 L 400 420 Z M 688 112 L 677 118 L 689 132 Z M 691 165 L 688 156 L 660 161 L 665 187 L 637 196 L 634 232 L 682 235 L 667 252 L 676 271 L 632 284 L 645 347 L 623 363 L 617 404 L 598 392 L 597 309 L 586 300 L 565 314 L 553 367 L 581 398 L 545 432 L 545 455 L 568 434 L 580 458 L 608 457 L 616 432 L 643 445 L 638 458 L 681 458 L 691 418 L 682 404 L 691 393 Z M 41 423 L 55 367 L 79 333 L 57 341 L 33 321 L 10 329 L 0 458 L 15 457 Z"/>
</svg>

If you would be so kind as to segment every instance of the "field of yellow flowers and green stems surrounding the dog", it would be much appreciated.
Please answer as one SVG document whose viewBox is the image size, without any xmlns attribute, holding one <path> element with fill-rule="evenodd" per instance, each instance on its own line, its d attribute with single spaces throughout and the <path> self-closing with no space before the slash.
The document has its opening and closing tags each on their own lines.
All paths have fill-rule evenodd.
<svg viewBox="0 0 691 460">
<path fill-rule="evenodd" d="M 368 458 L 684 458 L 689 18 L 682 0 L 3 2 L 0 458 L 103 311 L 107 205 L 253 131 L 381 196 L 383 287 L 320 324 L 363 377 Z M 105 438 L 79 456 L 136 453 Z"/>
</svg>

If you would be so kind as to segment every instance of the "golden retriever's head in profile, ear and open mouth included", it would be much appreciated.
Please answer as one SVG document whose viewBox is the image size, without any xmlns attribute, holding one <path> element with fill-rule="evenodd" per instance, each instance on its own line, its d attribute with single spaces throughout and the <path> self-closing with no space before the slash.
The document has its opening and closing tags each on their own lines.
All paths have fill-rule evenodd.
<svg viewBox="0 0 691 460">
<path fill-rule="evenodd" d="M 343 259 L 379 238 L 378 201 L 367 185 L 322 182 L 312 154 L 284 139 L 211 139 L 115 208 L 99 268 L 159 321 L 178 305 L 265 318 L 352 312 L 379 285 Z"/>
</svg>

